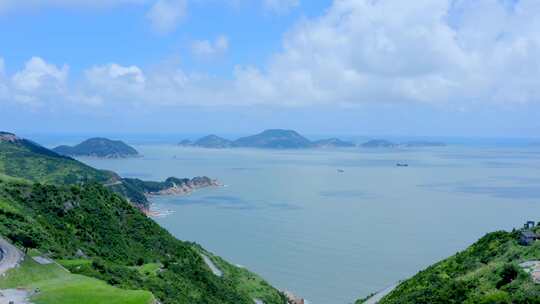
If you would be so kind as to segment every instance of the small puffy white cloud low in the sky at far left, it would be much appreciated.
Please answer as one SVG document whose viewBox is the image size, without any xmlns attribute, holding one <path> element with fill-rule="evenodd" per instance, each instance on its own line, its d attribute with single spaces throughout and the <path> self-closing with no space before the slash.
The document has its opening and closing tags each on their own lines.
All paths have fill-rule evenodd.
<svg viewBox="0 0 540 304">
<path fill-rule="evenodd" d="M 15 89 L 25 92 L 37 90 L 61 90 L 66 82 L 69 67 L 57 67 L 40 57 L 32 57 L 23 70 L 15 73 L 12 83 Z"/>
</svg>

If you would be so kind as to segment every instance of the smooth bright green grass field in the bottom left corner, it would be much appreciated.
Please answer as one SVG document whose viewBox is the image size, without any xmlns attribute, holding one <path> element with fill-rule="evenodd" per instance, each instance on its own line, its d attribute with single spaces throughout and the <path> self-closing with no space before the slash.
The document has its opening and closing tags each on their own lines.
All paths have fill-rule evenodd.
<svg viewBox="0 0 540 304">
<path fill-rule="evenodd" d="M 31 300 L 36 304 L 149 304 L 147 291 L 123 290 L 105 282 L 71 274 L 56 264 L 41 265 L 26 258 L 19 268 L 0 278 L 0 288 L 39 289 Z"/>
</svg>

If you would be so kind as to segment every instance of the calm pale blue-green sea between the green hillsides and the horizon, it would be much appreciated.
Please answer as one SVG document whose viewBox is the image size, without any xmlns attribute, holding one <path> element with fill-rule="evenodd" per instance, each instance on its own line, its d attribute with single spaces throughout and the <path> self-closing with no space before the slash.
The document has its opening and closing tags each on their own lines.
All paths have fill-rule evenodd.
<svg viewBox="0 0 540 304">
<path fill-rule="evenodd" d="M 315 304 L 352 303 L 486 232 L 540 220 L 539 147 L 137 148 L 144 158 L 83 161 L 126 177 L 219 179 L 226 187 L 155 198 L 174 211 L 156 221 Z"/>
</svg>

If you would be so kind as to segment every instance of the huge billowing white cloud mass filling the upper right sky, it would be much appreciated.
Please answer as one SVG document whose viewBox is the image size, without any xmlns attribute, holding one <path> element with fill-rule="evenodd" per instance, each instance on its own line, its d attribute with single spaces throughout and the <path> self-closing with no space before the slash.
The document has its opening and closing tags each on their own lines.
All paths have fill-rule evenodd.
<svg viewBox="0 0 540 304">
<path fill-rule="evenodd" d="M 237 68 L 235 87 L 286 104 L 534 102 L 538 14 L 534 0 L 336 0 L 268 66 Z"/>
</svg>

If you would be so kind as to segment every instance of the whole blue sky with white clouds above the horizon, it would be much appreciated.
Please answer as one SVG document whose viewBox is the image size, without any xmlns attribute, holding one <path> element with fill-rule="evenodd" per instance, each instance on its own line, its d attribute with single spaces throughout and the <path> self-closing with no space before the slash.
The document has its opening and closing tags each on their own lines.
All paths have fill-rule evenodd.
<svg viewBox="0 0 540 304">
<path fill-rule="evenodd" d="M 537 0 L 0 0 L 0 130 L 530 137 Z"/>
</svg>

